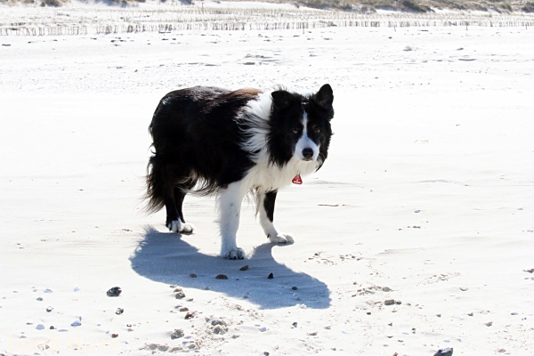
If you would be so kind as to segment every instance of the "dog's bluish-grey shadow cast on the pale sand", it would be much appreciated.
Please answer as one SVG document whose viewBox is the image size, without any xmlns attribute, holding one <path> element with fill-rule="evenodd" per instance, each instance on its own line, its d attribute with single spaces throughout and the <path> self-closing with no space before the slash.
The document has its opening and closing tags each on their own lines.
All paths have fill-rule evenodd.
<svg viewBox="0 0 534 356">
<path fill-rule="evenodd" d="M 144 239 L 130 257 L 132 268 L 141 276 L 180 287 L 206 289 L 234 298 L 247 299 L 261 309 L 294 305 L 325 309 L 330 305 L 330 291 L 319 279 L 292 271 L 272 257 L 271 243 L 255 248 L 247 260 L 229 261 L 204 255 L 197 247 L 147 227 Z M 248 265 L 247 271 L 239 269 Z M 270 273 L 273 278 L 269 279 Z M 191 277 L 191 274 L 197 277 Z M 223 274 L 228 279 L 216 279 Z"/>
</svg>

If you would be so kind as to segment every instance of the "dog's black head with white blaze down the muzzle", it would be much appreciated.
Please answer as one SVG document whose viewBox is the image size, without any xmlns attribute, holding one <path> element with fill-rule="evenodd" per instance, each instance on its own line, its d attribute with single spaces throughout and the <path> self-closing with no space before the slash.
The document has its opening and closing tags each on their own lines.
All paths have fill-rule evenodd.
<svg viewBox="0 0 534 356">
<path fill-rule="evenodd" d="M 284 166 L 291 158 L 317 162 L 328 157 L 334 117 L 334 93 L 330 85 L 311 95 L 278 90 L 271 93 L 271 134 L 268 137 L 273 163 Z"/>
</svg>

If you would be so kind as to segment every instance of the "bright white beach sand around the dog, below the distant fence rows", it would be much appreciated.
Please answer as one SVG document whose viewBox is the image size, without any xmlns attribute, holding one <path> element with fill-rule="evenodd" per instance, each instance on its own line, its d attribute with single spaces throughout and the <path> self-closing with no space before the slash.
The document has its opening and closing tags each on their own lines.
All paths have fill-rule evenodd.
<svg viewBox="0 0 534 356">
<path fill-rule="evenodd" d="M 0 43 L 0 353 L 534 353 L 534 29 Z M 191 236 L 142 214 L 147 127 L 165 93 L 325 83 L 330 156 L 277 202 L 294 245 L 268 244 L 246 205 L 249 259 L 217 257 L 213 198 L 186 198 Z"/>
</svg>

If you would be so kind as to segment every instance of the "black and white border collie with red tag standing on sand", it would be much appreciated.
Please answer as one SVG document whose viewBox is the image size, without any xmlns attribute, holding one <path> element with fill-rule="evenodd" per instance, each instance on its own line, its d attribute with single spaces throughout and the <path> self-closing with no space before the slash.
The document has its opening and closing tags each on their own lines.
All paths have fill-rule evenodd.
<svg viewBox="0 0 534 356">
<path fill-rule="evenodd" d="M 167 93 L 149 128 L 154 156 L 146 179 L 148 211 L 165 206 L 169 230 L 191 233 L 183 198 L 191 191 L 217 193 L 221 255 L 242 259 L 245 253 L 236 244 L 239 211 L 252 192 L 267 238 L 292 243 L 272 223 L 276 194 L 327 159 L 332 101 L 330 85 L 310 95 L 200 86 Z"/>
</svg>

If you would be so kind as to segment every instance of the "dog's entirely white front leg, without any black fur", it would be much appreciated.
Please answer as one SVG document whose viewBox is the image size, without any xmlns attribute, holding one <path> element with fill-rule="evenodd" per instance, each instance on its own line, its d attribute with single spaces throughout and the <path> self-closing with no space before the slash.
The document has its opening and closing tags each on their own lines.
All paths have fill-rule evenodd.
<svg viewBox="0 0 534 356">
<path fill-rule="evenodd" d="M 242 260 L 245 252 L 239 248 L 236 235 L 239 228 L 241 202 L 247 193 L 243 182 L 233 182 L 219 191 L 219 224 L 221 229 L 221 256 L 230 260 Z"/>
</svg>

